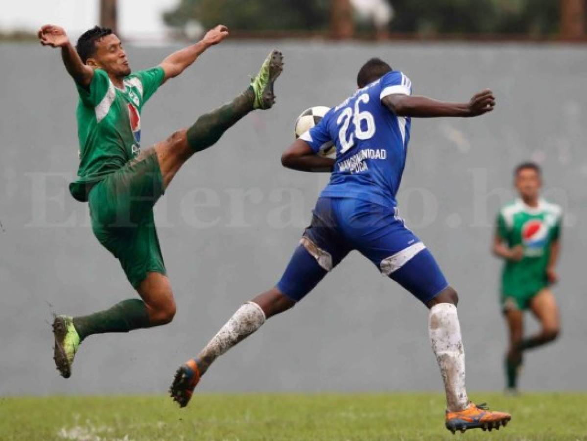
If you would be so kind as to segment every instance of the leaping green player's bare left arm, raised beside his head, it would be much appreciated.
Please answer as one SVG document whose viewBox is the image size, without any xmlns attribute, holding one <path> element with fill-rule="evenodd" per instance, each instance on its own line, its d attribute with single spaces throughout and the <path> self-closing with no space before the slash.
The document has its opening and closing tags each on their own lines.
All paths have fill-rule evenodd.
<svg viewBox="0 0 587 441">
<path fill-rule="evenodd" d="M 43 46 L 51 46 L 52 48 L 61 48 L 61 58 L 63 64 L 68 70 L 69 75 L 80 86 L 87 87 L 92 82 L 94 70 L 90 66 L 86 66 L 82 59 L 77 55 L 77 51 L 73 48 L 69 41 L 68 35 L 63 28 L 53 25 L 45 25 L 37 33 L 39 41 Z"/>
</svg>

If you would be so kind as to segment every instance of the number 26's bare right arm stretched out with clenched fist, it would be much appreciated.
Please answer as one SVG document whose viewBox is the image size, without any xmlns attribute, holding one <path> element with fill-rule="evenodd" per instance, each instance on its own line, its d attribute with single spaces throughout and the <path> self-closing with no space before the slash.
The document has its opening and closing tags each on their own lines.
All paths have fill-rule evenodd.
<svg viewBox="0 0 587 441">
<path fill-rule="evenodd" d="M 437 116 L 478 116 L 491 112 L 495 106 L 493 92 L 485 89 L 476 93 L 468 103 L 446 103 L 425 96 L 393 93 L 382 99 L 383 104 L 397 116 L 429 118 Z"/>
</svg>

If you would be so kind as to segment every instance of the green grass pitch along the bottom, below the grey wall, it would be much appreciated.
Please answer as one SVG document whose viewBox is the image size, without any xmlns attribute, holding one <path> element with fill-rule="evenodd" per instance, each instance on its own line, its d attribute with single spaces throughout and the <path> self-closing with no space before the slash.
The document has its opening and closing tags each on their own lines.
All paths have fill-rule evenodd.
<svg viewBox="0 0 587 441">
<path fill-rule="evenodd" d="M 587 440 L 587 394 L 473 394 L 512 413 L 493 432 L 444 429 L 430 393 L 0 398 L 0 440 Z"/>
</svg>

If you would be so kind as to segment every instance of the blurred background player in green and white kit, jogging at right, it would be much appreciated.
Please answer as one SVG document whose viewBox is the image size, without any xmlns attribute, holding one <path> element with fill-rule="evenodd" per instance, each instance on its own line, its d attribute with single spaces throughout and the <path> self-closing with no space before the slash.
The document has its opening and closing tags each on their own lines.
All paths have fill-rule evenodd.
<svg viewBox="0 0 587 441">
<path fill-rule="evenodd" d="M 553 341 L 560 332 L 558 306 L 549 285 L 558 280 L 561 207 L 540 197 L 541 170 L 534 163 L 514 172 L 519 197 L 502 207 L 497 216 L 493 252 L 505 260 L 501 305 L 510 329 L 505 356 L 507 390 L 515 392 L 522 353 Z M 524 311 L 530 309 L 541 331 L 524 338 Z"/>
</svg>

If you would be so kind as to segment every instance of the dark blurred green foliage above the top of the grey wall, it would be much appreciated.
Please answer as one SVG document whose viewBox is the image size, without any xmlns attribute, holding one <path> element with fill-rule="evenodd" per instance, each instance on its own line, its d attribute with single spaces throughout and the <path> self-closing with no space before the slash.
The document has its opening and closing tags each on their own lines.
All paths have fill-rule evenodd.
<svg viewBox="0 0 587 441">
<path fill-rule="evenodd" d="M 559 0 L 384 0 L 393 8 L 389 32 L 525 34 L 558 32 Z M 322 31 L 329 0 L 181 0 L 164 18 L 169 25 L 223 23 L 238 31 Z M 371 26 L 372 27 L 372 26 Z M 369 23 L 357 29 L 368 31 Z"/>
</svg>

